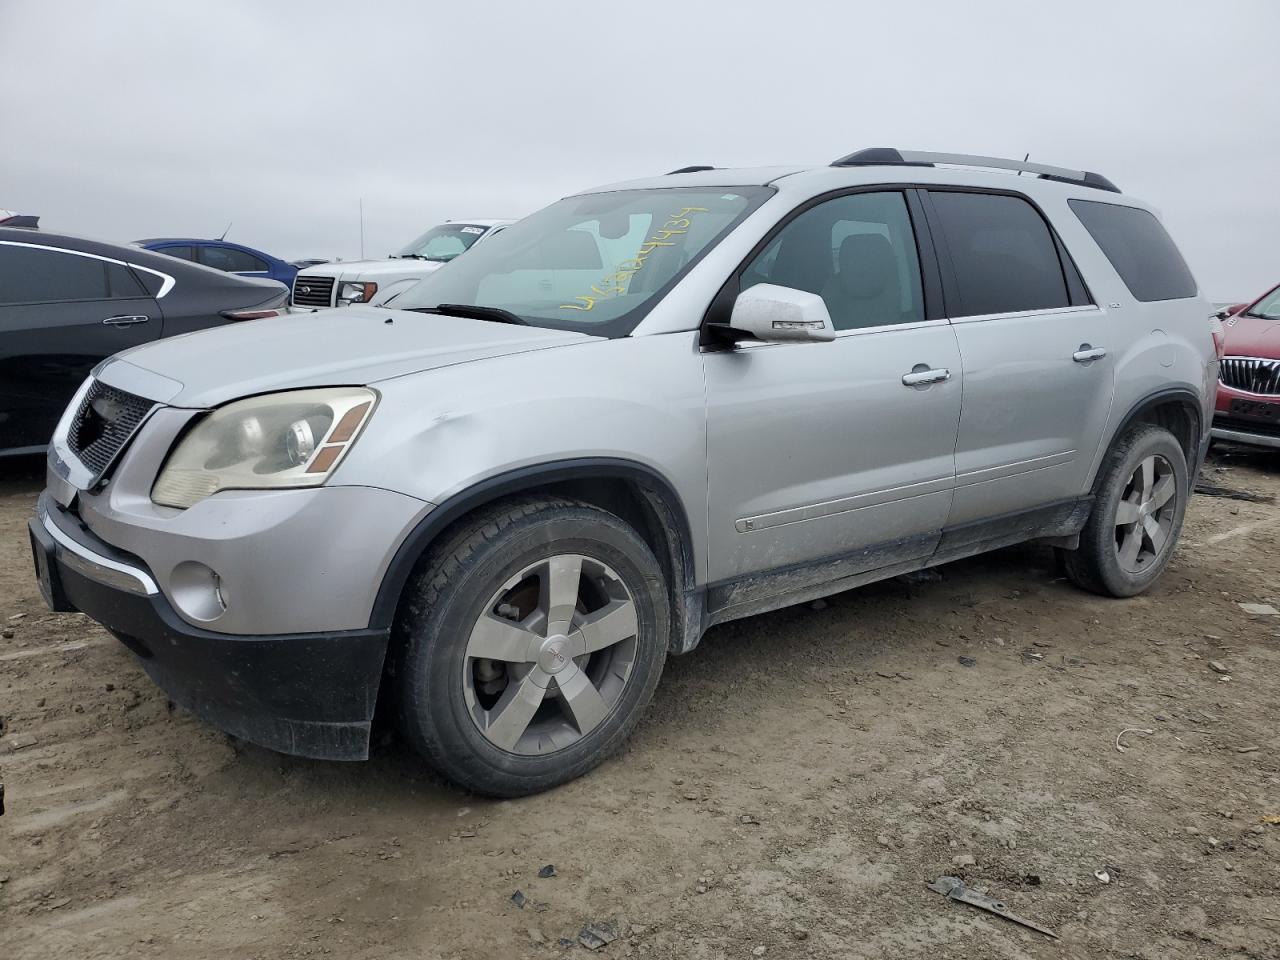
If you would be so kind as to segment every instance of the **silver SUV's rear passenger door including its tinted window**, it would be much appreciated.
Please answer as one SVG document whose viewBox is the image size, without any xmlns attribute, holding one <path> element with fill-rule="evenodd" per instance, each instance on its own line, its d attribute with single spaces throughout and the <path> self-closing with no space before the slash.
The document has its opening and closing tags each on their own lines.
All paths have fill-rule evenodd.
<svg viewBox="0 0 1280 960">
<path fill-rule="evenodd" d="M 1121 346 L 1106 311 L 1027 197 L 931 189 L 924 200 L 964 357 L 947 526 L 1079 497 Z"/>
</svg>

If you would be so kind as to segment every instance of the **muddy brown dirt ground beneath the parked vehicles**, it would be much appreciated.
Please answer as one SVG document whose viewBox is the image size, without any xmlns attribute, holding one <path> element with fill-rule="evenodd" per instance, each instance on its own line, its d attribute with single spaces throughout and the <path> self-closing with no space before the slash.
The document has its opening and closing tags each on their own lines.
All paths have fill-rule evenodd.
<svg viewBox="0 0 1280 960">
<path fill-rule="evenodd" d="M 1280 506 L 1196 497 L 1133 600 L 1027 547 L 717 627 L 625 753 L 494 803 L 172 709 L 41 604 L 40 470 L 0 466 L 6 960 L 588 956 L 593 922 L 607 957 L 1280 956 L 1280 617 L 1239 607 L 1280 607 Z M 1204 480 L 1280 497 L 1280 454 Z"/>
</svg>

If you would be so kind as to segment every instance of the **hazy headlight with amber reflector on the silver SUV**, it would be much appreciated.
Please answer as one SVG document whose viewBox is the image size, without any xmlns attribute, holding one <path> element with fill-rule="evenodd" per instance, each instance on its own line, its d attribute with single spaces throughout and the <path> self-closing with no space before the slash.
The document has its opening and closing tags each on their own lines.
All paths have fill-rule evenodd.
<svg viewBox="0 0 1280 960">
<path fill-rule="evenodd" d="M 219 490 L 317 486 L 351 449 L 376 401 L 361 387 L 330 387 L 219 407 L 169 454 L 151 499 L 186 509 Z"/>
</svg>

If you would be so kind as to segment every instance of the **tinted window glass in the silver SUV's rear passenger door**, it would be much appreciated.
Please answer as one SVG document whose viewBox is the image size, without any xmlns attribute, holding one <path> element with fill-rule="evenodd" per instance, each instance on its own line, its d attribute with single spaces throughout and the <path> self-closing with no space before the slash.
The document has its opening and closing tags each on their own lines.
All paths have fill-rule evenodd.
<svg viewBox="0 0 1280 960">
<path fill-rule="evenodd" d="M 929 192 L 955 268 L 952 316 L 1070 306 L 1048 224 L 1021 197 Z"/>
</svg>

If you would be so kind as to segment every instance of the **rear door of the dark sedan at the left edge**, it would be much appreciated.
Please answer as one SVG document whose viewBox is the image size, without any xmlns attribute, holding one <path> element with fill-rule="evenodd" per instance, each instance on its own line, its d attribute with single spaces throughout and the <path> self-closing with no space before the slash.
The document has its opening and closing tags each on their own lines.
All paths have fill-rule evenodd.
<svg viewBox="0 0 1280 960">
<path fill-rule="evenodd" d="M 0 451 L 47 444 L 90 370 L 160 326 L 123 262 L 0 241 Z"/>
</svg>

